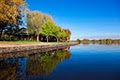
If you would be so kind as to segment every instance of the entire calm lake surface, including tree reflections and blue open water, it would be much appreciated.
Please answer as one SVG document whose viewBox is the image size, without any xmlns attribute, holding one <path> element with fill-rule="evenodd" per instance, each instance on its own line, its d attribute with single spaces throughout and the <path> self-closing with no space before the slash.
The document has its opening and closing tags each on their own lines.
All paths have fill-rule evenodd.
<svg viewBox="0 0 120 80">
<path fill-rule="evenodd" d="M 0 80 L 120 80 L 119 45 L 77 45 L 0 60 Z"/>
</svg>

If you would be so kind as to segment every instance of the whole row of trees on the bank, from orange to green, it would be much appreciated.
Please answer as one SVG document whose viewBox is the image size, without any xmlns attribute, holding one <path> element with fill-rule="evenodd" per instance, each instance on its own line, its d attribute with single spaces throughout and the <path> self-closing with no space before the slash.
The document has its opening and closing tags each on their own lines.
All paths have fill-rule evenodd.
<svg viewBox="0 0 120 80">
<path fill-rule="evenodd" d="M 26 6 L 25 0 L 0 0 L 0 39 L 2 35 L 14 35 L 20 30 L 19 25 L 23 24 L 23 9 Z M 49 38 L 55 37 L 57 41 L 67 41 L 71 32 L 57 26 L 50 15 L 39 11 L 27 11 L 27 35 L 34 34 L 39 41 L 39 35 Z"/>
</svg>

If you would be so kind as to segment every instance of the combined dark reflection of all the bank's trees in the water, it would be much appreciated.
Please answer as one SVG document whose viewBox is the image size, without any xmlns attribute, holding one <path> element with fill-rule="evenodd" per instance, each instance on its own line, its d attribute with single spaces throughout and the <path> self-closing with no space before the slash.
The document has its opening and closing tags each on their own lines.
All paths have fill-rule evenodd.
<svg viewBox="0 0 120 80">
<path fill-rule="evenodd" d="M 27 57 L 3 58 L 0 60 L 0 80 L 23 80 L 30 76 L 47 75 L 70 56 L 68 50 L 57 50 Z"/>
</svg>

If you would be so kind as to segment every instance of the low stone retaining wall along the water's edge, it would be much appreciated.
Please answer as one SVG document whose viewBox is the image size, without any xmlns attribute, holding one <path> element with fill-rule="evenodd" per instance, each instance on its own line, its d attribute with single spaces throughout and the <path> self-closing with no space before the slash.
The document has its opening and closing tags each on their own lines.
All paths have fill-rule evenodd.
<svg viewBox="0 0 120 80">
<path fill-rule="evenodd" d="M 77 45 L 77 42 L 72 43 L 59 43 L 59 44 L 48 44 L 48 45 L 34 45 L 34 46 L 17 46 L 17 47 L 0 47 L 0 54 L 3 53 L 14 53 L 19 51 L 29 51 L 29 50 L 41 50 L 42 49 L 52 49 L 66 46 Z"/>
</svg>

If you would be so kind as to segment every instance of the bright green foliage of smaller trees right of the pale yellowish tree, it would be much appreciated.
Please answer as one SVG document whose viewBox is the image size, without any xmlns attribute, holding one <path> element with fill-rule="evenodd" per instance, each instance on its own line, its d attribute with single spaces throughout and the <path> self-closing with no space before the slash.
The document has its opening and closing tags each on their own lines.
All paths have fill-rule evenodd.
<svg viewBox="0 0 120 80">
<path fill-rule="evenodd" d="M 46 21 L 42 28 L 41 28 L 41 34 L 48 37 L 48 36 L 54 36 L 57 38 L 65 38 L 67 37 L 67 34 L 64 29 L 57 27 L 53 22 Z"/>
</svg>

